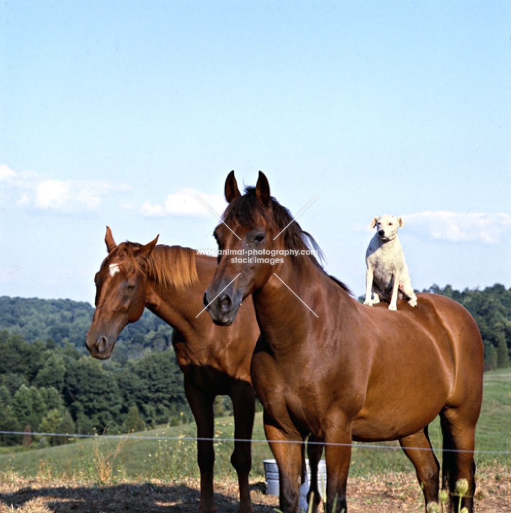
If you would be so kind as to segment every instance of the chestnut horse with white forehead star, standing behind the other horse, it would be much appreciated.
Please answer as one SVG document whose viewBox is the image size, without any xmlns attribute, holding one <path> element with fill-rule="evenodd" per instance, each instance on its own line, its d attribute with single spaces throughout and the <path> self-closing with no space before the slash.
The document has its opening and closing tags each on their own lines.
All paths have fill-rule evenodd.
<svg viewBox="0 0 511 513">
<path fill-rule="evenodd" d="M 240 512 L 253 511 L 248 475 L 250 440 L 254 421 L 254 390 L 250 360 L 259 327 L 252 302 L 247 301 L 239 319 L 229 329 L 211 322 L 203 309 L 204 289 L 213 278 L 217 259 L 196 255 L 193 249 L 156 246 L 158 237 L 142 246 L 115 244 L 107 227 L 108 257 L 95 275 L 96 298 L 86 345 L 94 358 L 109 358 L 122 329 L 140 318 L 144 308 L 158 315 L 174 330 L 172 344 L 184 373 L 186 398 L 197 424 L 198 460 L 201 470 L 201 513 L 215 511 L 213 501 L 213 402 L 226 394 L 234 410 L 231 463 L 238 472 Z"/>
</svg>

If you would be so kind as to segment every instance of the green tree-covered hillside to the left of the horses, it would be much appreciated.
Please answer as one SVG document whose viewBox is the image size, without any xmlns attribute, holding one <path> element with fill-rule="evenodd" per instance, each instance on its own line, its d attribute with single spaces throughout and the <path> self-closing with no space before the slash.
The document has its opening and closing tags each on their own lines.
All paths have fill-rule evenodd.
<svg viewBox="0 0 511 513">
<path fill-rule="evenodd" d="M 0 430 L 69 432 L 67 422 L 82 433 L 127 432 L 130 408 L 147 426 L 190 415 L 172 328 L 145 311 L 111 359 L 94 360 L 85 348 L 93 312 L 71 300 L 0 297 Z M 18 438 L 2 435 L 0 445 Z"/>
</svg>

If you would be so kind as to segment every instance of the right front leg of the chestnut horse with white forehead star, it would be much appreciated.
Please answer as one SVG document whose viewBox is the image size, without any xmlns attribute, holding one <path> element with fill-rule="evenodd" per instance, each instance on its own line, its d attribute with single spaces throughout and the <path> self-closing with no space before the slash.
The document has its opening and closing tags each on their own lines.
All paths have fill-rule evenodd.
<svg viewBox="0 0 511 513">
<path fill-rule="evenodd" d="M 254 389 L 250 383 L 237 380 L 231 386 L 230 398 L 234 410 L 234 451 L 231 456 L 231 463 L 238 472 L 240 513 L 252 513 L 253 507 L 250 500 L 248 476 L 252 467 L 250 440 L 252 440 L 255 415 Z"/>
</svg>

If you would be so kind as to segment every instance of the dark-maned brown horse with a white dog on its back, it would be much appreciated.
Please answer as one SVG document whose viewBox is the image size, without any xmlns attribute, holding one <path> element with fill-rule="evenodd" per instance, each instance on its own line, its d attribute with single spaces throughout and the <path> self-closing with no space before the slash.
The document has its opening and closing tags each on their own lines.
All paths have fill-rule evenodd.
<svg viewBox="0 0 511 513">
<path fill-rule="evenodd" d="M 252 294 L 261 336 L 251 375 L 279 466 L 281 510 L 298 509 L 301 443 L 310 435 L 325 444 L 328 512 L 347 508 L 353 441 L 399 440 L 426 505 L 438 501 L 439 463 L 427 426 L 440 415 L 443 487 L 453 494 L 456 481 L 466 479 L 463 505 L 472 511 L 483 381 L 474 319 L 435 294 L 418 294 L 416 308 L 401 301 L 397 312 L 361 305 L 312 255 L 285 256 L 290 249 L 306 252 L 311 238 L 270 196 L 263 173 L 244 195 L 230 173 L 225 196 L 230 229 L 215 229 L 219 248 L 259 254 L 242 263 L 222 257 L 205 303 L 220 293 L 209 312 L 225 326 Z M 261 256 L 264 250 L 283 251 L 283 262 Z"/>
</svg>

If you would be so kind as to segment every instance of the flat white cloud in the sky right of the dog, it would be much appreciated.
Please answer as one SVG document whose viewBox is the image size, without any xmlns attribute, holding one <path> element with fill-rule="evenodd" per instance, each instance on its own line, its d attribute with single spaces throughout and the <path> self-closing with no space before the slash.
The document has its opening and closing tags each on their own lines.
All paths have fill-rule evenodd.
<svg viewBox="0 0 511 513">
<path fill-rule="evenodd" d="M 403 215 L 410 227 L 426 230 L 432 239 L 451 242 L 482 242 L 496 244 L 511 228 L 511 214 L 420 212 Z"/>
</svg>

